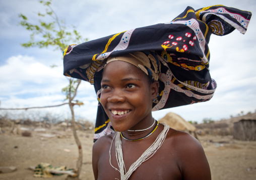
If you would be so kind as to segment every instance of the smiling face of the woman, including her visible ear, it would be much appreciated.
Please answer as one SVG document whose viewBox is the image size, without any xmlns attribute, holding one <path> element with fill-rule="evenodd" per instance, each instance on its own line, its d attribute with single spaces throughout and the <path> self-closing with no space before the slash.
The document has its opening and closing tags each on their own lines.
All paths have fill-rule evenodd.
<svg viewBox="0 0 256 180">
<path fill-rule="evenodd" d="M 149 84 L 147 75 L 123 61 L 106 65 L 101 81 L 100 102 L 116 131 L 143 129 L 152 124 L 152 100 L 158 82 Z"/>
</svg>

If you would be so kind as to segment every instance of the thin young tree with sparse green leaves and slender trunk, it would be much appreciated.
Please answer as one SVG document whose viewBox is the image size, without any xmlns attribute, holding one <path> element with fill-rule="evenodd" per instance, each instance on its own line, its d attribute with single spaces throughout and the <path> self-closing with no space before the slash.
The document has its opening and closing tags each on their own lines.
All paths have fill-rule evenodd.
<svg viewBox="0 0 256 180">
<path fill-rule="evenodd" d="M 60 21 L 56 13 L 51 8 L 51 0 L 49 1 L 39 1 L 40 4 L 46 7 L 45 13 L 38 13 L 37 16 L 39 18 L 39 24 L 31 24 L 28 21 L 28 18 L 20 14 L 19 17 L 22 19 L 20 22 L 20 25 L 26 28 L 26 30 L 30 31 L 30 40 L 27 43 L 21 44 L 21 46 L 25 48 L 30 47 L 38 47 L 38 48 L 47 48 L 49 46 L 55 47 L 55 50 L 60 50 L 63 52 L 66 47 L 68 47 L 70 42 L 80 44 L 81 41 L 87 41 L 87 39 L 82 39 L 81 35 L 77 32 L 74 26 L 72 26 L 72 30 L 68 30 L 67 26 L 63 21 Z M 50 17 L 51 21 L 46 22 L 42 21 L 41 19 L 45 17 Z M 40 40 L 37 40 L 37 39 Z M 54 67 L 53 65 L 52 67 Z M 72 125 L 73 125 L 73 134 L 78 146 L 79 150 L 79 158 L 77 162 L 77 177 L 71 177 L 69 178 L 79 178 L 81 167 L 82 167 L 82 146 L 81 142 L 78 138 L 77 132 L 76 132 L 76 126 L 75 126 L 75 113 L 74 113 L 74 105 L 83 105 L 82 102 L 74 101 L 74 98 L 77 95 L 78 87 L 81 83 L 81 80 L 76 80 L 73 78 L 68 78 L 69 85 L 62 89 L 62 92 L 66 94 L 66 100 L 68 100 L 68 104 L 70 106 L 71 114 L 72 114 Z"/>
</svg>

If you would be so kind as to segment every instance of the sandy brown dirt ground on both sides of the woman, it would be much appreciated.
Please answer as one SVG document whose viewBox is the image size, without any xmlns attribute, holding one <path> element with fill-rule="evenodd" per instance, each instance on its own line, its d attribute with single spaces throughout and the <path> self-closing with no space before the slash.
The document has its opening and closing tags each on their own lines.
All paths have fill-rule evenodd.
<svg viewBox="0 0 256 180">
<path fill-rule="evenodd" d="M 75 168 L 78 149 L 71 130 L 52 127 L 44 132 L 31 131 L 31 137 L 10 134 L 10 129 L 0 134 L 0 166 L 16 166 L 14 172 L 0 173 L 0 179 L 30 180 L 33 176 L 29 166 L 41 162 L 52 166 L 66 165 Z M 51 134 L 54 137 L 44 137 Z M 83 148 L 83 167 L 80 179 L 94 179 L 91 157 L 93 130 L 79 131 Z M 212 172 L 213 180 L 256 179 L 256 142 L 238 141 L 232 136 L 199 136 Z M 51 179 L 65 179 L 67 175 Z"/>
</svg>

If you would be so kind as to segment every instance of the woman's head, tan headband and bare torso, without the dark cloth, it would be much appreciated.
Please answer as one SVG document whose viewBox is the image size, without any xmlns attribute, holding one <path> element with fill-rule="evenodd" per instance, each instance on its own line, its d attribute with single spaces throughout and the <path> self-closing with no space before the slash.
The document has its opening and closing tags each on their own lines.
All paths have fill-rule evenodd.
<svg viewBox="0 0 256 180">
<path fill-rule="evenodd" d="M 101 137 L 93 146 L 95 179 L 152 179 L 152 174 L 153 179 L 182 179 L 184 175 L 193 179 L 211 178 L 209 164 L 200 143 L 189 134 L 169 128 L 166 124 L 159 124 L 152 117 L 153 101 L 159 94 L 158 58 L 161 59 L 154 52 L 134 52 L 106 61 L 101 93 L 98 96 L 117 132 Z M 182 147 L 183 141 L 187 142 Z M 133 150 L 134 147 L 136 151 Z M 196 159 L 185 155 L 187 151 L 198 158 L 197 163 Z M 175 156 L 168 157 L 168 153 Z M 113 158 L 114 154 L 116 160 Z M 165 162 L 147 174 L 156 159 L 163 156 L 166 158 Z M 187 157 L 189 160 L 185 160 Z M 104 163 L 108 160 L 109 163 Z M 193 168 L 191 164 L 194 165 Z M 183 169 L 185 165 L 187 167 Z M 188 172 L 182 173 L 183 170 Z"/>
</svg>

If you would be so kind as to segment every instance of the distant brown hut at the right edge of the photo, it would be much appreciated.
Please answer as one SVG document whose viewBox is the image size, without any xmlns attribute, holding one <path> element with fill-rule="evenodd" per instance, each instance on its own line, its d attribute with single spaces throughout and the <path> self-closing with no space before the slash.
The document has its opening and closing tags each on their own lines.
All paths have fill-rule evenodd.
<svg viewBox="0 0 256 180">
<path fill-rule="evenodd" d="M 233 137 L 237 140 L 256 140 L 256 120 L 242 119 L 235 122 Z"/>
</svg>

